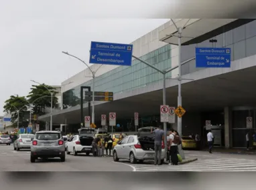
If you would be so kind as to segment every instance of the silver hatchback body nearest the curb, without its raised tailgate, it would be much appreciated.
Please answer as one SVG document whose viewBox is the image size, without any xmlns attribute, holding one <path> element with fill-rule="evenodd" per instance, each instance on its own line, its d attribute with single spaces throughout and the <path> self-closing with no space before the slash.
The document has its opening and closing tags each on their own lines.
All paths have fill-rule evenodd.
<svg viewBox="0 0 256 190">
<path fill-rule="evenodd" d="M 129 159 L 131 163 L 155 159 L 154 139 L 129 135 L 121 140 L 113 149 L 114 161 Z M 164 163 L 164 145 L 162 145 L 161 162 Z"/>
</svg>

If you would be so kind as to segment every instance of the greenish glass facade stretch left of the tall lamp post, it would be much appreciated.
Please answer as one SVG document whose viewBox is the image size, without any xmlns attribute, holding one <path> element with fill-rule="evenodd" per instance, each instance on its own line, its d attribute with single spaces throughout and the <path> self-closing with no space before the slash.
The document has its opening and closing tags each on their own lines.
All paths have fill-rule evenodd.
<svg viewBox="0 0 256 190">
<path fill-rule="evenodd" d="M 171 45 L 166 45 L 140 58 L 158 69 L 164 70 L 172 67 L 171 57 Z M 171 72 L 166 77 L 171 77 Z M 96 77 L 95 91 L 111 91 L 113 93 L 131 91 L 162 79 L 163 75 L 161 73 L 135 59 L 131 67 L 120 66 Z M 92 80 L 80 86 L 92 87 Z M 80 86 L 63 93 L 64 109 L 80 104 Z"/>
</svg>

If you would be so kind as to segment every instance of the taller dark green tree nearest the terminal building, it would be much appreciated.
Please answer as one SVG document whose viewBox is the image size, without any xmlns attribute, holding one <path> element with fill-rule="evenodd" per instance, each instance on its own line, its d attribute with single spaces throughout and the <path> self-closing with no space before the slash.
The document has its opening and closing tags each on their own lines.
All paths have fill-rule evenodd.
<svg viewBox="0 0 256 190">
<path fill-rule="evenodd" d="M 52 107 L 54 108 L 58 103 L 58 98 L 56 97 L 58 92 L 54 87 L 45 84 L 32 85 L 31 91 L 27 95 L 28 101 L 33 103 L 33 111 L 37 115 L 44 115 L 46 113 L 45 108 L 51 107 L 51 94 L 48 89 L 53 93 Z"/>
</svg>

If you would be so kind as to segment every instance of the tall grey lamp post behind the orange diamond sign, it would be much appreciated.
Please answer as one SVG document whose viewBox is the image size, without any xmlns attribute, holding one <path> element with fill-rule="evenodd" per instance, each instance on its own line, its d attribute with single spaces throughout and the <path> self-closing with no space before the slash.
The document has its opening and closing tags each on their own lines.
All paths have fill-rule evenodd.
<svg viewBox="0 0 256 190">
<path fill-rule="evenodd" d="M 182 106 L 182 65 L 181 65 L 181 53 L 182 53 L 182 27 L 178 27 L 178 107 Z M 178 117 L 178 127 L 177 131 L 182 137 L 182 117 Z M 185 159 L 184 151 L 182 150 L 182 145 L 178 145 L 179 154 L 182 159 Z"/>
</svg>

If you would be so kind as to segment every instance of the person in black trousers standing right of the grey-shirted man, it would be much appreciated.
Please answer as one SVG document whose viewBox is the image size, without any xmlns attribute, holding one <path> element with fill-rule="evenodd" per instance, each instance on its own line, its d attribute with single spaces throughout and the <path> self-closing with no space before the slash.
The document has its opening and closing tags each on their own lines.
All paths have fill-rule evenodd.
<svg viewBox="0 0 256 190">
<path fill-rule="evenodd" d="M 169 165 L 178 165 L 178 145 L 180 144 L 180 136 L 174 129 L 171 130 L 170 134 L 170 155 L 171 163 Z"/>
</svg>

